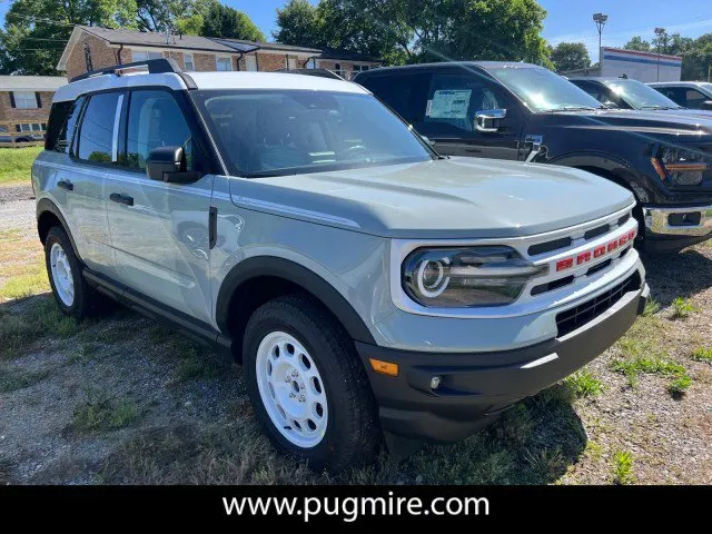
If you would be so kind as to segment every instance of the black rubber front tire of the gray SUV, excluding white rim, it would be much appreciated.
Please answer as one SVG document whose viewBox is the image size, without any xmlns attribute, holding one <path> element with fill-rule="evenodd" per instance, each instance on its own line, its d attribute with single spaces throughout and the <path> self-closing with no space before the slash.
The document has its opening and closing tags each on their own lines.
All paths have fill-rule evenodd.
<svg viewBox="0 0 712 534">
<path fill-rule="evenodd" d="M 294 336 L 308 350 L 324 382 L 327 426 L 322 441 L 310 448 L 295 445 L 277 429 L 259 393 L 257 349 L 275 332 Z M 312 468 L 330 472 L 373 459 L 380 433 L 368 377 L 349 335 L 320 303 L 308 295 L 295 294 L 264 304 L 247 324 L 243 350 L 255 414 L 279 452 L 306 459 Z"/>
</svg>

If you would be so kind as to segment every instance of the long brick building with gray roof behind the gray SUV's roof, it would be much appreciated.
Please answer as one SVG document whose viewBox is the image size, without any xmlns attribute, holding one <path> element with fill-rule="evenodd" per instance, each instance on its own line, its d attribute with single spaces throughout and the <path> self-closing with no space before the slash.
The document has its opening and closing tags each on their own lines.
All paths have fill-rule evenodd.
<svg viewBox="0 0 712 534">
<path fill-rule="evenodd" d="M 277 42 L 75 27 L 57 69 L 75 76 L 115 65 L 172 58 L 186 71 L 328 68 L 346 78 L 379 67 L 375 58 Z"/>
</svg>

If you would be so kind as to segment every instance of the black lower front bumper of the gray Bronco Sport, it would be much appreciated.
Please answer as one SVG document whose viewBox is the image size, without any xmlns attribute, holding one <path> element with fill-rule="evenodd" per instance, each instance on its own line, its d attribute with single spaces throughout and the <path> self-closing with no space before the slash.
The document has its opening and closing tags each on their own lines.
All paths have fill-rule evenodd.
<svg viewBox="0 0 712 534">
<path fill-rule="evenodd" d="M 405 448 L 404 441 L 452 443 L 471 435 L 516 400 L 555 384 L 613 345 L 642 313 L 649 293 L 643 281 L 570 334 L 515 350 L 443 354 L 356 343 L 386 442 L 393 451 Z M 375 373 L 369 358 L 398 364 L 398 375 Z M 434 376 L 441 378 L 435 390 Z"/>
</svg>

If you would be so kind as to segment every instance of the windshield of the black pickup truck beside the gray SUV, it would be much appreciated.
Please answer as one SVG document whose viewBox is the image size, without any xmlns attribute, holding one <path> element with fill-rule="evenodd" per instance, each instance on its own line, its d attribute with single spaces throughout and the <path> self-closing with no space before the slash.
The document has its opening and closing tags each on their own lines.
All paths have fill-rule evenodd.
<svg viewBox="0 0 712 534">
<path fill-rule="evenodd" d="M 601 102 L 568 80 L 543 68 L 494 68 L 497 80 L 532 111 L 600 109 Z"/>
</svg>

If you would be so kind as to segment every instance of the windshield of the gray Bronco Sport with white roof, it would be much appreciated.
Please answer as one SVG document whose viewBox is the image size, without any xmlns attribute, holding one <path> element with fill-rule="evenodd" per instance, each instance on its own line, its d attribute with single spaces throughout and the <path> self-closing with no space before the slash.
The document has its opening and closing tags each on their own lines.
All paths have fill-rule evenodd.
<svg viewBox="0 0 712 534">
<path fill-rule="evenodd" d="M 406 164 L 434 155 L 370 95 L 211 90 L 195 96 L 237 176 Z"/>
</svg>

